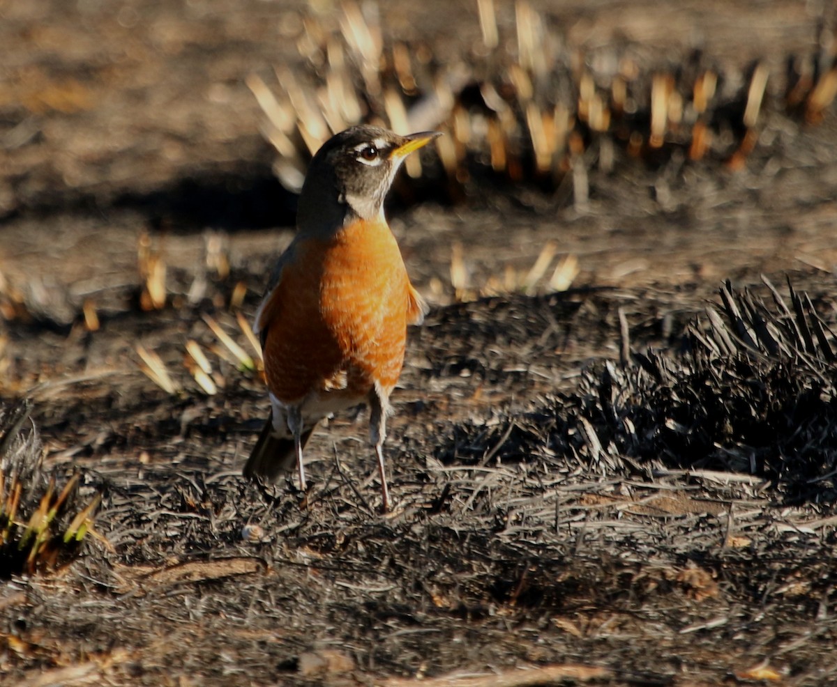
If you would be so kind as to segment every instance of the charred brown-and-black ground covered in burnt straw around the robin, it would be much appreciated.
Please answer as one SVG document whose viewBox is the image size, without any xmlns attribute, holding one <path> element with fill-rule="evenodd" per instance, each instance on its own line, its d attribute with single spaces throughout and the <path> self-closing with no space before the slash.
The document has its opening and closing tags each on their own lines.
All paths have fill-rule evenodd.
<svg viewBox="0 0 837 687">
<path fill-rule="evenodd" d="M 449 4 L 391 3 L 382 23 L 475 40 L 475 11 Z M 389 425 L 398 507 L 377 511 L 364 410 L 311 441 L 303 502 L 240 477 L 268 404 L 203 318 L 246 348 L 231 299 L 243 284 L 251 316 L 290 241 L 292 196 L 244 77 L 299 60 L 294 7 L 0 3 L 0 403 L 32 399 L 44 471 L 78 472 L 82 500 L 103 492 L 78 557 L 0 583 L 0 681 L 826 684 L 833 337 L 798 325 L 837 320 L 833 110 L 805 125 L 766 109 L 736 172 L 619 158 L 591 170 L 583 208 L 479 178 L 457 204 L 393 203 L 434 305 Z M 571 43 L 638 41 L 649 64 L 699 42 L 779 73 L 813 52 L 812 7 L 551 16 Z M 159 310 L 140 307 L 144 235 L 167 266 Z M 548 242 L 578 259 L 572 288 L 501 286 Z M 794 312 L 787 277 L 811 311 Z M 187 371 L 189 339 L 217 394 Z M 138 343 L 174 393 L 143 374 Z"/>
</svg>

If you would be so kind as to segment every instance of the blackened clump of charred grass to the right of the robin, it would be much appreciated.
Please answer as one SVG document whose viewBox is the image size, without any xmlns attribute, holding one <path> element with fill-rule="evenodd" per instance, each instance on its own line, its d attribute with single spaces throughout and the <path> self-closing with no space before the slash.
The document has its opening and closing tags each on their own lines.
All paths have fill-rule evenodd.
<svg viewBox="0 0 837 687">
<path fill-rule="evenodd" d="M 834 333 L 807 295 L 791 286 L 786 299 L 765 282 L 772 306 L 727 283 L 721 303 L 687 328 L 680 354 L 639 354 L 624 340 L 622 364 L 593 364 L 573 393 L 490 430 L 454 427 L 439 458 L 555 456 L 609 475 L 743 473 L 788 501 L 837 498 Z M 469 446 L 481 448 L 470 455 Z"/>
</svg>

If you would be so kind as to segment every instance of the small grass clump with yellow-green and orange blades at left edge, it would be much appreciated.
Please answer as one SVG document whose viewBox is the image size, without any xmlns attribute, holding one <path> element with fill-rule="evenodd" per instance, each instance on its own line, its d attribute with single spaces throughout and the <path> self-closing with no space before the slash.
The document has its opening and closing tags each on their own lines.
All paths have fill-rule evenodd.
<svg viewBox="0 0 837 687">
<path fill-rule="evenodd" d="M 30 412 L 27 401 L 0 406 L 0 579 L 54 570 L 77 556 L 101 498 L 80 499 L 78 473 L 64 486 L 46 474 Z"/>
</svg>

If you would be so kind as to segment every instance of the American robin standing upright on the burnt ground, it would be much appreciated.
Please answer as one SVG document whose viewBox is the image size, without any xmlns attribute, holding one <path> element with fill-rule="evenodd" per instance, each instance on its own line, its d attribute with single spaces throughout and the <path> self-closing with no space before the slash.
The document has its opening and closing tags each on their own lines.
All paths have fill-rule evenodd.
<svg viewBox="0 0 837 687">
<path fill-rule="evenodd" d="M 311 160 L 298 233 L 276 263 L 255 316 L 271 416 L 245 476 L 273 483 L 295 462 L 304 491 L 302 449 L 316 425 L 368 403 L 389 510 L 383 463 L 389 394 L 401 374 L 407 325 L 421 323 L 427 306 L 410 283 L 383 200 L 407 155 L 437 135 L 353 126 Z"/>
</svg>

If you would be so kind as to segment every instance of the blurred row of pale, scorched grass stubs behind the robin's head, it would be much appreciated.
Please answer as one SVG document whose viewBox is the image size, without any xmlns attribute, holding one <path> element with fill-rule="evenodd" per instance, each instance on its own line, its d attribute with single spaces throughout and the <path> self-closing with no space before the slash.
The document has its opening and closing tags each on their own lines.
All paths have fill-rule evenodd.
<svg viewBox="0 0 837 687">
<path fill-rule="evenodd" d="M 406 166 L 454 201 L 475 191 L 473 179 L 485 187 L 496 178 L 570 191 L 583 208 L 588 170 L 609 172 L 628 159 L 655 168 L 712 160 L 740 170 L 771 114 L 816 123 L 837 94 L 834 56 L 818 46 L 813 25 L 811 51 L 788 55 L 786 72 L 771 74 L 766 60 L 722 66 L 701 49 L 650 61 L 646 47 L 627 40 L 573 47 L 526 0 L 513 16 L 478 0 L 481 43 L 444 54 L 388 36 L 367 9 L 342 3 L 339 23 L 308 13 L 288 37 L 306 69 L 277 68 L 278 88 L 248 79 L 264 136 L 279 153 L 277 176 L 290 190 L 331 134 L 372 123 L 444 131 L 432 164 L 414 156 Z"/>
</svg>

